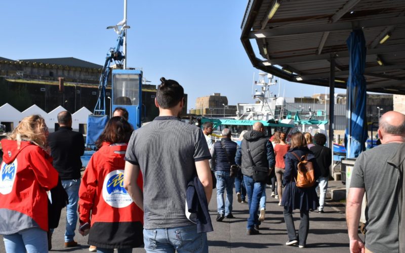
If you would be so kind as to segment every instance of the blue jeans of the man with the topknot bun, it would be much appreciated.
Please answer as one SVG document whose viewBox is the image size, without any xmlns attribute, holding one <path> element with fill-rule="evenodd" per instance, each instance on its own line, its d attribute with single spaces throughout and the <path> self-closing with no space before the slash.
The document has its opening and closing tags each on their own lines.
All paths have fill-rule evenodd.
<svg viewBox="0 0 405 253">
<path fill-rule="evenodd" d="M 146 252 L 208 252 L 207 233 L 197 233 L 197 225 L 143 229 Z"/>
</svg>

